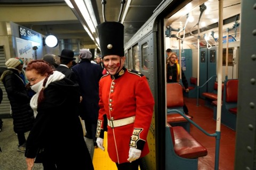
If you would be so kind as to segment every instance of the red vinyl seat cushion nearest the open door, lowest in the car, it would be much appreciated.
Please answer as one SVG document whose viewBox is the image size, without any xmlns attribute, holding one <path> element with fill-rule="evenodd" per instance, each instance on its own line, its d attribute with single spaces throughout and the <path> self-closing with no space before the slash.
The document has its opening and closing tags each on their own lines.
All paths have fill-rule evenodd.
<svg viewBox="0 0 256 170">
<path fill-rule="evenodd" d="M 174 151 L 175 153 L 187 159 L 194 159 L 207 155 L 207 149 L 201 145 L 193 136 L 191 136 L 181 126 L 170 126 L 171 137 L 174 139 Z"/>
</svg>

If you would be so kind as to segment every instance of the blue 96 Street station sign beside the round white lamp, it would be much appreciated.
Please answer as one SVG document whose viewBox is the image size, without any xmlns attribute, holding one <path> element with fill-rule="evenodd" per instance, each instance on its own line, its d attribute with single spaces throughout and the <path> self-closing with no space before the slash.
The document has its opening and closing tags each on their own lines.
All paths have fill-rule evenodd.
<svg viewBox="0 0 256 170">
<path fill-rule="evenodd" d="M 27 29 L 25 27 L 19 26 L 20 38 L 27 39 L 30 41 L 36 41 L 40 43 L 42 40 L 40 39 L 40 35 L 38 32 Z"/>
</svg>

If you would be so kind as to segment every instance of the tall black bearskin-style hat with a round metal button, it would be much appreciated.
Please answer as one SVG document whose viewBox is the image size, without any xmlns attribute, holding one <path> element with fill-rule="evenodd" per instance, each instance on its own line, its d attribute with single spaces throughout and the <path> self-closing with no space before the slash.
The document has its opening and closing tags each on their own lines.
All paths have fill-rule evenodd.
<svg viewBox="0 0 256 170">
<path fill-rule="evenodd" d="M 106 55 L 124 56 L 124 25 L 103 22 L 97 26 L 102 58 Z"/>
</svg>

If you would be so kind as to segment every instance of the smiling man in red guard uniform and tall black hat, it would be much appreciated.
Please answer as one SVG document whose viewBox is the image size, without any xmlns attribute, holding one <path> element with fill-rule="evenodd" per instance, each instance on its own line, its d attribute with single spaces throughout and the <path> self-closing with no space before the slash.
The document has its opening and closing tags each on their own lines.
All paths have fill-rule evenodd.
<svg viewBox="0 0 256 170">
<path fill-rule="evenodd" d="M 138 169 L 149 153 L 147 134 L 154 98 L 146 77 L 124 67 L 124 25 L 103 22 L 97 26 L 103 64 L 108 74 L 99 82 L 97 144 L 103 147 L 103 115 L 107 115 L 108 154 L 118 169 Z"/>
</svg>

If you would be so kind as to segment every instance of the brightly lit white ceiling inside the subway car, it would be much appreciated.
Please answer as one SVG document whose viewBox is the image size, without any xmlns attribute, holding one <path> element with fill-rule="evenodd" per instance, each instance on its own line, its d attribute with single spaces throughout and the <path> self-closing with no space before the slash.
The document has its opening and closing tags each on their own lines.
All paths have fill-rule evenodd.
<svg viewBox="0 0 256 170">
<path fill-rule="evenodd" d="M 241 0 L 223 1 L 223 36 L 229 35 L 239 41 L 239 23 L 241 13 Z M 173 44 L 181 39 L 183 45 L 189 48 L 197 47 L 198 27 L 199 41 L 202 45 L 215 45 L 219 37 L 219 1 L 191 1 L 175 13 L 170 13 L 165 20 L 165 37 L 170 37 Z M 185 35 L 185 37 L 183 37 Z M 177 38 L 178 37 L 178 38 Z M 207 40 L 207 41 L 206 41 Z M 178 45 L 177 45 L 178 46 Z"/>
</svg>

